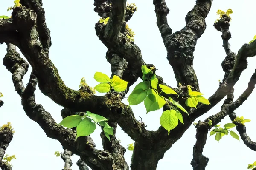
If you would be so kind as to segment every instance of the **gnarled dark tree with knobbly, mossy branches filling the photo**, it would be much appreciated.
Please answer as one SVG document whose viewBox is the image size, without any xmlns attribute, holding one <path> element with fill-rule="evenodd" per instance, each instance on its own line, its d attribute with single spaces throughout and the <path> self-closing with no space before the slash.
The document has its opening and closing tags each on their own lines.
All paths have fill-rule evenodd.
<svg viewBox="0 0 256 170">
<path fill-rule="evenodd" d="M 18 1 L 16 2 L 18 3 Z M 81 164 L 84 165 L 86 163 L 93 170 L 128 169 L 128 164 L 126 164 L 123 156 L 125 148 L 120 145 L 116 137 L 111 135 L 111 142 L 109 142 L 104 133 L 101 134 L 104 150 L 95 149 L 95 144 L 90 136 L 79 137 L 75 141 L 76 133 L 74 130 L 76 129 L 64 128 L 61 125 L 57 125 L 52 116 L 44 110 L 43 106 L 36 104 L 34 91 L 37 83 L 44 95 L 64 107 L 61 111 L 63 118 L 90 111 L 91 113 L 109 117 L 108 124 L 114 128 L 114 132 L 118 124 L 135 141 L 131 164 L 131 169 L 134 170 L 156 169 L 157 163 L 163 158 L 164 153 L 180 139 L 195 119 L 204 115 L 204 113 L 212 109 L 212 107 L 217 105 L 226 96 L 227 99 L 225 99 L 220 112 L 195 125 L 197 128 L 197 141 L 193 148 L 192 167 L 195 170 L 201 170 L 206 167 L 208 159 L 202 155 L 202 151 L 208 131 L 212 127 L 214 128 L 227 115 L 230 116 L 230 123 L 236 119 L 233 123 L 241 135 L 241 139 L 244 140 L 244 143 L 249 148 L 254 149 L 254 143 L 251 143 L 250 138 L 244 133 L 244 119 L 242 120 L 241 116 L 240 119 L 237 118 L 233 111 L 253 91 L 255 73 L 249 81 L 247 90 L 235 101 L 233 101 L 233 87 L 239 80 L 242 71 L 247 67 L 247 57 L 253 57 L 255 55 L 254 46 L 256 42 L 253 41 L 250 44 L 244 44 L 238 54 L 231 52 L 228 41 L 231 37 L 229 32 L 230 17 L 228 15 L 222 14 L 221 19 L 214 24 L 215 28 L 222 33 L 223 46 L 227 55 L 224 62 L 222 62 L 222 68 L 225 72 L 224 78 L 220 82 L 216 92 L 209 97 L 210 105 L 199 103 L 196 105 L 196 108 L 186 105 L 186 103 L 188 104 L 186 102 L 187 99 L 192 98 L 192 95 L 189 95 L 189 87 L 192 87 L 192 91 L 200 91 L 198 79 L 192 67 L 193 52 L 198 38 L 201 37 L 206 28 L 204 19 L 209 13 L 212 3 L 211 0 L 198 0 L 196 6 L 187 14 L 186 26 L 175 33 L 172 33 L 172 29 L 167 24 L 166 15 L 169 9 L 165 1 L 154 1 L 157 26 L 168 52 L 167 59 L 173 68 L 177 80 L 177 87 L 172 88 L 172 90 L 179 97 L 176 94 L 164 93 L 164 91 L 161 95 L 166 99 L 171 97 L 174 101 L 179 102 L 189 113 L 188 117 L 182 109 L 179 110 L 176 108 L 183 116 L 184 125 L 179 123 L 169 134 L 163 127 L 160 127 L 157 131 L 146 130 L 146 125 L 143 121 L 135 119 L 134 114 L 136 113 L 133 112 L 131 107 L 121 102 L 131 85 L 137 82 L 138 79 L 143 79 L 143 72 L 141 71 L 143 65 L 147 66 L 145 69 L 150 69 L 153 73 L 157 74 L 157 71 L 155 72 L 157 68 L 154 65 L 147 64 L 143 61 L 140 48 L 132 40 L 131 30 L 123 22 L 123 20 L 127 22 L 131 19 L 135 12 L 134 6 L 130 5 L 127 8 L 126 2 L 122 0 L 111 0 L 111 2 L 101 0 L 95 1 L 94 3 L 95 11 L 103 18 L 96 23 L 95 28 L 99 40 L 108 48 L 106 58 L 111 64 L 112 74 L 110 78 L 113 79 L 113 76 L 117 75 L 129 82 L 127 90 L 124 92 L 116 93 L 115 91 L 111 91 L 111 93 L 105 96 L 96 96 L 86 84 L 81 84 L 82 87 L 79 91 L 72 90 L 64 85 L 57 68 L 55 68 L 49 59 L 51 38 L 45 24 L 41 1 L 20 0 L 20 3 L 23 6 L 17 6 L 13 9 L 12 18 L 0 20 L 0 42 L 8 45 L 7 54 L 4 57 L 3 63 L 13 74 L 15 89 L 21 96 L 22 105 L 27 116 L 37 122 L 48 137 L 57 139 L 64 147 L 65 150 L 62 157 L 68 159 L 68 161 L 65 159 L 66 168 L 70 168 L 69 155 L 72 152 L 80 156 Z M 109 19 L 107 19 L 108 17 Z M 15 50 L 15 46 L 20 49 L 29 64 L 25 59 L 20 57 L 20 54 Z M 22 78 L 28 71 L 29 65 L 32 67 L 32 73 L 28 85 L 24 87 Z M 159 75 L 156 77 L 158 83 L 155 87 L 160 93 L 164 87 L 161 87 L 161 85 L 168 85 L 164 83 L 165 81 Z M 154 87 L 151 82 L 152 88 Z M 131 88 L 131 90 L 133 89 Z M 200 102 L 200 99 L 198 101 Z M 175 108 L 172 103 L 169 103 L 169 105 Z M 165 105 L 163 110 L 168 111 L 170 109 L 168 107 L 169 105 Z M 228 127 L 227 124 L 226 127 Z M 219 127 L 217 128 L 218 130 L 211 130 L 211 133 L 216 132 L 216 139 L 228 131 L 225 131 L 224 128 L 223 130 Z M 6 130 L 4 133 L 8 131 L 10 136 L 8 141 L 10 142 L 12 138 L 10 128 L 4 128 L 4 130 Z M 233 133 L 230 132 L 231 134 Z M 236 135 L 233 134 L 233 136 Z M 95 159 L 96 161 L 91 161 L 91 159 Z"/>
</svg>

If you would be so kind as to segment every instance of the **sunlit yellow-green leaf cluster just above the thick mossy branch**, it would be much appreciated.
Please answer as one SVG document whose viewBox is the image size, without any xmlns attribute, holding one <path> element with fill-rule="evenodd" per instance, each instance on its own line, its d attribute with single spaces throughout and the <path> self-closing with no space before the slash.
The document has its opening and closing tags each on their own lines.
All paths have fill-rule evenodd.
<svg viewBox="0 0 256 170">
<path fill-rule="evenodd" d="M 125 91 L 128 85 L 127 81 L 120 79 L 120 77 L 116 75 L 110 79 L 106 74 L 101 72 L 96 72 L 94 74 L 94 79 L 97 82 L 101 82 L 101 84 L 94 87 L 94 89 L 100 93 L 110 92 L 111 89 L 117 92 Z"/>
</svg>

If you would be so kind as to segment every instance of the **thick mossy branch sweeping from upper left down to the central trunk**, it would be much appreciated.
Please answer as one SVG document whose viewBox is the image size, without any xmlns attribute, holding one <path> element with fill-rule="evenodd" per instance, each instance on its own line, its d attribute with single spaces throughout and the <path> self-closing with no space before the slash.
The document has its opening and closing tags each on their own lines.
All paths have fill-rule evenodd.
<svg viewBox="0 0 256 170">
<path fill-rule="evenodd" d="M 74 91 L 64 85 L 64 82 L 59 77 L 58 70 L 38 41 L 35 25 L 36 14 L 34 11 L 25 9 L 22 6 L 17 7 L 14 9 L 12 17 L 19 27 L 18 31 L 22 33 L 20 51 L 22 51 L 34 69 L 38 79 L 38 86 L 45 95 L 72 112 L 91 111 L 92 113 L 110 117 L 118 122 L 122 129 L 134 140 L 150 138 L 150 133 L 135 119 L 131 108 L 122 104 L 115 96 L 110 94 L 107 96 L 93 96 L 81 90 Z M 101 107 L 98 107 L 99 105 Z M 105 112 L 102 113 L 102 109 Z"/>
</svg>

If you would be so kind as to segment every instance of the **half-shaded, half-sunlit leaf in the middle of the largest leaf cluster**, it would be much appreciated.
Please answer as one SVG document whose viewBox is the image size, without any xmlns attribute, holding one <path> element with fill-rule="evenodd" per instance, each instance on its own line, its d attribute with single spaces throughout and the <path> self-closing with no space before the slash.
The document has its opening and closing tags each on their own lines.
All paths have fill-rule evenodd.
<svg viewBox="0 0 256 170">
<path fill-rule="evenodd" d="M 154 90 L 148 89 L 147 92 L 148 92 L 148 96 L 146 96 L 144 100 L 144 105 L 147 110 L 147 113 L 150 111 L 156 111 L 162 108 L 164 104 L 166 104 L 166 101 L 162 97 L 160 97 Z M 153 102 L 151 100 L 152 98 L 149 97 L 150 94 L 155 96 L 156 102 Z"/>
</svg>

